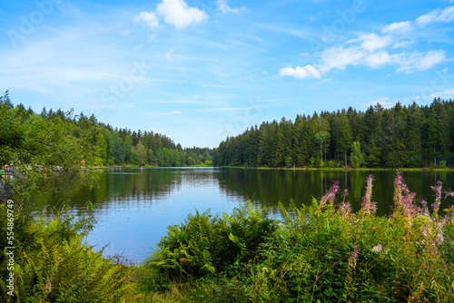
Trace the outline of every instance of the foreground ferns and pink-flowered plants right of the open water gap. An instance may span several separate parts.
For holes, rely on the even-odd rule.
[[[183,226],[170,229],[150,259],[145,274],[148,289],[169,288],[180,301],[190,302],[454,300],[454,208],[441,219],[438,209],[429,212],[424,203],[417,205],[398,174],[396,208],[389,217],[378,217],[370,201],[372,180],[370,176],[356,214],[345,201],[345,192],[335,203],[339,187],[334,184],[320,202],[312,200],[301,208],[292,201],[288,208],[280,205],[280,221],[268,222],[263,216],[267,212],[254,210],[251,204],[222,219],[190,216]],[[442,191],[441,184],[432,189],[439,197],[436,203],[443,192],[445,198],[454,196]],[[244,218],[256,224],[245,225]],[[272,227],[266,237],[260,234],[261,224]],[[235,230],[237,225],[240,230]],[[219,245],[229,247],[236,257],[222,248],[217,255]],[[177,256],[163,254],[177,250]],[[204,258],[208,256],[204,251],[210,258]],[[197,260],[198,270],[186,258]],[[168,275],[164,261],[180,271]],[[201,272],[203,262],[213,270]]]

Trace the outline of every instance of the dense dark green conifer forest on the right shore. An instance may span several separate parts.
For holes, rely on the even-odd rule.
[[[298,114],[262,122],[221,142],[218,166],[428,167],[454,164],[454,102],[380,104],[366,112]]]

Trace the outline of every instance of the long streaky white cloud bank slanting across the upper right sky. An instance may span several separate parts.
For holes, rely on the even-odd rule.
[[[454,1],[454,0],[453,0]],[[436,9],[428,15],[422,15],[417,19],[419,24],[431,22],[454,21],[454,6],[443,10]],[[408,47],[415,41],[405,40],[406,34],[413,30],[410,21],[397,22],[384,26],[382,34],[360,34],[345,44],[335,45],[322,50],[318,64],[308,64],[304,67],[281,68],[279,75],[288,75],[304,79],[321,75],[331,70],[344,70],[348,65],[367,66],[380,68],[389,64],[396,67],[396,73],[414,73],[433,68],[437,64],[447,61],[445,51],[430,50],[426,52],[396,52],[397,48]]]

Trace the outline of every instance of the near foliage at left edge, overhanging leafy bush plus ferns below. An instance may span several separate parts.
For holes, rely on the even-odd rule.
[[[44,109],[37,115],[15,109],[7,93],[0,98],[0,126],[0,164],[12,164],[15,170],[13,178],[0,178],[0,301],[122,301],[133,288],[131,269],[84,244],[94,224],[91,204],[88,213],[77,216],[64,214],[69,210],[37,216],[33,204],[35,195],[49,189],[64,191],[74,182],[95,185],[97,174],[86,167],[106,161],[102,127],[94,116],[74,116],[71,111]],[[8,199],[15,201],[14,297],[6,288]]]

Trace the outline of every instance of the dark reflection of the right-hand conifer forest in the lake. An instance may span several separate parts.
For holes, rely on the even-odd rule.
[[[334,181],[339,181],[341,191],[349,190],[347,200],[353,210],[360,210],[366,178],[372,173],[372,200],[378,202],[378,214],[390,213],[393,205],[393,181],[395,171],[282,171],[282,170],[239,170],[226,169],[216,172],[219,186],[226,195],[241,195],[245,199],[258,200],[258,203],[274,207],[278,201],[289,205],[293,199],[297,206],[310,204],[312,197],[320,200]],[[430,185],[441,180],[444,188],[454,185],[454,174],[447,172],[405,171],[403,176],[410,191],[417,192],[419,200],[433,201]],[[340,192],[341,193],[341,192]],[[341,195],[338,200],[341,201]],[[448,203],[446,203],[448,205]]]

